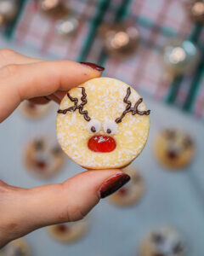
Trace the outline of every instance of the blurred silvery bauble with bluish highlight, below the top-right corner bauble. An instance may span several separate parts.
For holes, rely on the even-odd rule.
[[[161,50],[161,63],[170,77],[190,74],[198,64],[199,52],[198,47],[190,40],[173,39]]]

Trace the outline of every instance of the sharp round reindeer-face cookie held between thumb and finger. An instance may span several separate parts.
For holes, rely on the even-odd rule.
[[[91,79],[71,89],[59,105],[59,144],[85,168],[122,168],[144,148],[149,114],[129,85],[117,79]]]

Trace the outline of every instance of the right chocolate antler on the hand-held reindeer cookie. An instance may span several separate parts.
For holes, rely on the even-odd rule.
[[[129,113],[129,112],[132,112],[133,115],[136,114],[136,113],[138,113],[138,114],[140,114],[140,115],[144,115],[144,114],[149,115],[149,114],[150,114],[150,110],[139,111],[138,107],[139,107],[139,104],[140,104],[141,102],[143,102],[143,99],[142,99],[142,98],[140,98],[140,99],[138,100],[138,102],[136,102],[136,103],[134,104],[134,107],[131,108],[132,103],[127,100],[128,97],[130,96],[130,94],[131,94],[131,90],[130,90],[130,87],[128,87],[128,88],[127,88],[127,94],[126,94],[126,96],[124,97],[124,100],[123,100],[123,102],[125,102],[125,103],[127,104],[127,107],[126,107],[126,109],[122,112],[122,115],[121,115],[119,118],[117,118],[117,119],[115,120],[116,124],[121,123],[121,122],[122,122],[122,119],[123,119],[123,118],[125,117],[125,115],[126,115],[127,113]]]

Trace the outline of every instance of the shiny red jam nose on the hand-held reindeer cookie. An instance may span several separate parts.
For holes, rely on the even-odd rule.
[[[116,141],[110,136],[95,135],[89,139],[88,148],[94,152],[111,152],[116,148]]]

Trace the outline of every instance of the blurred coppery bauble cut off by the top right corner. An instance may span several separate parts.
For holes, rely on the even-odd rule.
[[[195,23],[204,24],[204,2],[202,0],[189,0],[185,5],[190,19]]]

